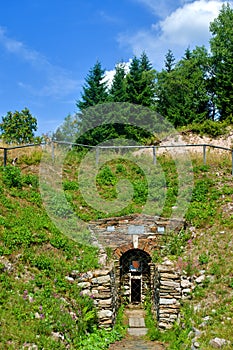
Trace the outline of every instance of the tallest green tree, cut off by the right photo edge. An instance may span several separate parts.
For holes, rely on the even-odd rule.
[[[210,24],[212,38],[212,88],[220,120],[233,114],[233,9],[223,4],[218,17]]]

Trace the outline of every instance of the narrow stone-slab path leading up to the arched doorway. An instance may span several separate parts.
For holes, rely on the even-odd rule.
[[[145,311],[140,307],[130,307],[125,310],[128,321],[126,338],[111,344],[109,350],[165,350],[160,342],[149,341],[143,338],[147,333],[145,326]]]

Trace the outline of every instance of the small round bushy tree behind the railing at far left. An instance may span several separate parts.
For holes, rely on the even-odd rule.
[[[34,135],[37,130],[37,120],[28,108],[21,112],[7,112],[7,115],[2,117],[0,130],[1,137],[6,143],[23,144],[40,141]]]

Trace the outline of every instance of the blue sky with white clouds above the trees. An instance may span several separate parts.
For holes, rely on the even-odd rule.
[[[208,46],[221,0],[8,0],[0,5],[0,117],[30,109],[38,133],[76,112],[84,79],[99,60],[112,76],[119,61],[145,51],[160,70],[171,49]],[[230,1],[232,5],[232,1]]]

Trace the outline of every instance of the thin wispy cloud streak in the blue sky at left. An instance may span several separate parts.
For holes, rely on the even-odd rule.
[[[19,82],[18,85],[37,96],[53,96],[59,98],[66,96],[80,86],[80,82],[70,77],[65,69],[51,64],[41,53],[28,48],[24,43],[12,39],[6,35],[6,31],[0,27],[0,45],[10,54],[27,62],[35,71],[40,72],[44,79],[44,85],[33,88],[30,84]]]

